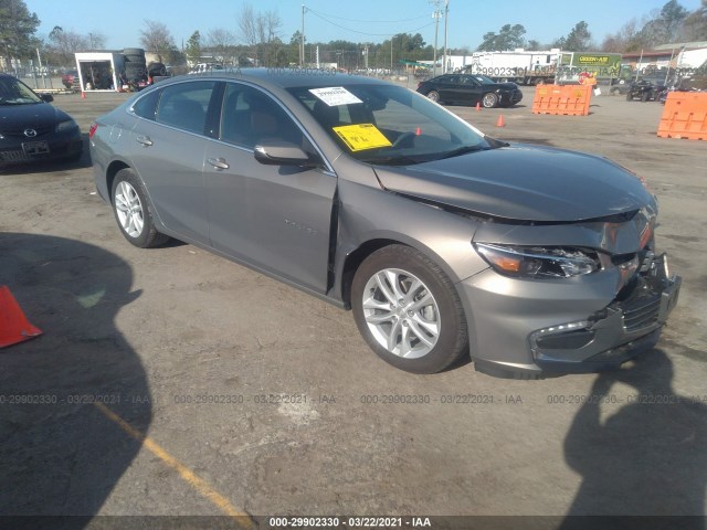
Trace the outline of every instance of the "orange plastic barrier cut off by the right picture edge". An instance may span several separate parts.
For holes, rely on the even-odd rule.
[[[671,92],[665,100],[658,136],[707,140],[707,93]]]

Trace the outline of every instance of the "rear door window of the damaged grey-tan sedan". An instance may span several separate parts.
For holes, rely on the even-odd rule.
[[[214,81],[180,83],[162,89],[157,121],[203,135]]]

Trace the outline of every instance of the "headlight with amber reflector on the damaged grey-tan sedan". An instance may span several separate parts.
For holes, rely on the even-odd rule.
[[[599,256],[581,248],[506,246],[474,243],[482,257],[499,274],[525,278],[570,278],[601,268]]]

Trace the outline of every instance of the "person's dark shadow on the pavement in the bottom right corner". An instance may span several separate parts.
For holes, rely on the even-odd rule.
[[[582,484],[561,529],[587,528],[572,516],[698,516],[679,528],[705,529],[707,406],[701,396],[677,395],[672,381],[673,363],[659,349],[597,378],[564,439]],[[616,383],[632,392],[621,394]],[[626,404],[602,422],[608,403]]]

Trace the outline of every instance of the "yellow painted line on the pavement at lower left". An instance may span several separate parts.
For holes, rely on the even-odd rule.
[[[116,423],[123,431],[125,431],[128,435],[141,442],[143,445],[155,456],[157,456],[160,460],[165,463],[168,467],[171,467],[176,470],[179,476],[191,486],[193,489],[199,491],[203,497],[209,499],[217,508],[219,508],[223,513],[230,517],[238,518],[238,523],[242,528],[252,529],[253,521],[250,516],[244,511],[238,510],[229,499],[219,494],[213,487],[211,487],[205,480],[199,478],[194,473],[184,466],[181,462],[170,455],[166,449],[163,449],[157,442],[155,442],[149,436],[140,433],[137,428],[130,425],[128,422],[118,416],[115,412],[108,409],[103,403],[94,403],[96,409],[98,409],[106,417],[108,417],[112,422]]]

